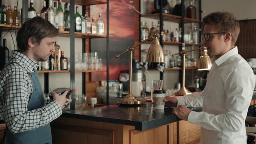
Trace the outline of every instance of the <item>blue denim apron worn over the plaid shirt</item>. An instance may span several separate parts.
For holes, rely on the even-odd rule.
[[[42,108],[45,105],[42,88],[39,82],[38,73],[32,72],[30,79],[33,86],[33,92],[27,105],[28,111]],[[6,129],[7,144],[52,144],[52,135],[50,124],[39,127],[32,131],[20,132],[13,134]]]

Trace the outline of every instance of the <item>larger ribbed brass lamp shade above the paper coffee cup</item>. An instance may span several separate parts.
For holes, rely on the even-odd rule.
[[[148,49],[146,62],[165,62],[164,49],[160,45],[158,36],[153,37],[152,44]]]

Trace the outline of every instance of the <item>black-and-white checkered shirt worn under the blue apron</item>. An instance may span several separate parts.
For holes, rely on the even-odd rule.
[[[42,127],[62,114],[56,101],[46,101],[46,106],[32,111],[27,105],[33,91],[27,72],[34,72],[37,64],[20,52],[13,51],[10,62],[0,73],[0,117],[13,133]]]

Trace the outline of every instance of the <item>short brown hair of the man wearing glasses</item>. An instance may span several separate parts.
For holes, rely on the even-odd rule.
[[[233,44],[236,43],[237,37],[240,32],[239,22],[232,13],[228,12],[215,12],[210,13],[203,18],[204,25],[213,25],[219,29],[220,32],[229,32],[232,35]]]

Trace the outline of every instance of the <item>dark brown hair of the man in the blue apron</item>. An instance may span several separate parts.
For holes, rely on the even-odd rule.
[[[55,37],[59,33],[49,21],[36,16],[27,20],[17,33],[16,42],[18,49],[23,52],[28,49],[28,39],[39,45],[46,37]]]

